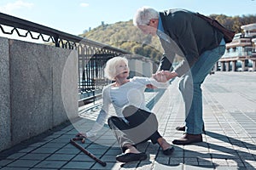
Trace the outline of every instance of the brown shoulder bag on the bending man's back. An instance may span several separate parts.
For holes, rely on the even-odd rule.
[[[211,19],[210,17],[207,17],[203,14],[199,14],[199,13],[196,13],[197,16],[199,16],[201,19],[203,20],[207,20],[207,22],[218,29],[218,31],[221,31],[223,34],[224,34],[224,41],[226,43],[229,43],[229,42],[232,42],[233,40],[233,37],[235,36],[235,31],[230,31],[228,29],[226,29],[224,26],[222,26],[221,24],[219,24],[218,20],[213,20]]]

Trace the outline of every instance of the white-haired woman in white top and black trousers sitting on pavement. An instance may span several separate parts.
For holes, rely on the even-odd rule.
[[[168,83],[157,82],[154,78],[129,77],[128,60],[124,57],[109,59],[105,67],[105,76],[114,82],[103,88],[102,109],[94,126],[85,137],[93,137],[102,129],[108,118],[108,107],[113,105],[116,116],[108,118],[108,126],[113,130],[122,149],[122,154],[116,156],[117,161],[142,161],[147,155],[137,150],[136,145],[148,139],[153,144],[160,144],[165,155],[171,155],[172,145],[158,132],[158,122],[154,113],[145,105],[144,90],[147,85],[156,88],[167,88]]]

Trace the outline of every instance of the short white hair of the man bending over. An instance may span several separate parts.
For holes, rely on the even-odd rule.
[[[134,26],[148,26],[151,19],[159,19],[159,12],[150,7],[141,7],[133,16]]]

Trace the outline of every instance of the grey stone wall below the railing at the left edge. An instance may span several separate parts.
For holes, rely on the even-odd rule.
[[[78,116],[76,51],[3,37],[0,50],[0,150]]]

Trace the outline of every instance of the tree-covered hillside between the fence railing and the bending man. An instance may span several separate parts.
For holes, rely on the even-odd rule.
[[[132,20],[98,26],[79,36],[154,60],[159,60],[163,52],[158,37],[144,35],[133,26]]]

